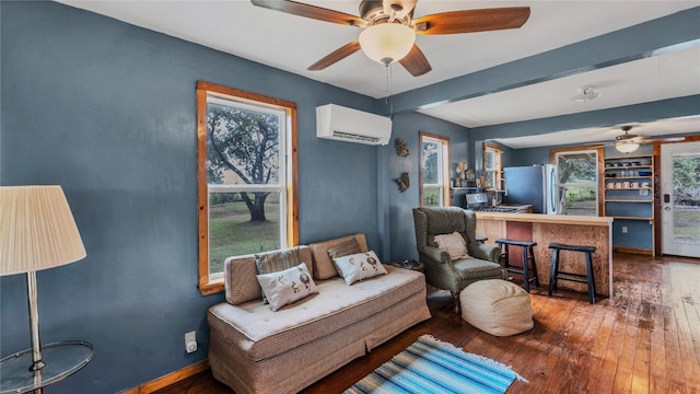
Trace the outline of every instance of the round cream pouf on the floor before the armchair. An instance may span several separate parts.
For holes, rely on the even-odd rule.
[[[495,336],[526,332],[534,326],[529,294],[501,279],[479,280],[459,293],[462,318]]]

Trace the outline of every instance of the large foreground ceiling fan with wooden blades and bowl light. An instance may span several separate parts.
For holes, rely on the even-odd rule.
[[[250,0],[254,5],[318,21],[364,28],[358,39],[341,46],[308,67],[323,70],[362,49],[380,63],[398,61],[413,77],[432,70],[416,45],[416,34],[458,34],[521,27],[529,18],[529,7],[441,12],[413,18],[418,0],[362,0],[360,15],[305,4],[292,0]]]

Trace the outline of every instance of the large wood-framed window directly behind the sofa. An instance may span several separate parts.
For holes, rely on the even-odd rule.
[[[296,104],[197,83],[199,289],[229,256],[298,243]]]

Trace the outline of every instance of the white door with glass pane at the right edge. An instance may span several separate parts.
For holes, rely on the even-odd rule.
[[[661,147],[662,253],[700,257],[700,142]]]

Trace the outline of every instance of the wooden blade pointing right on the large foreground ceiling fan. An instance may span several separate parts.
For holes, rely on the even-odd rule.
[[[415,19],[416,34],[457,34],[521,27],[529,7],[463,10]]]

